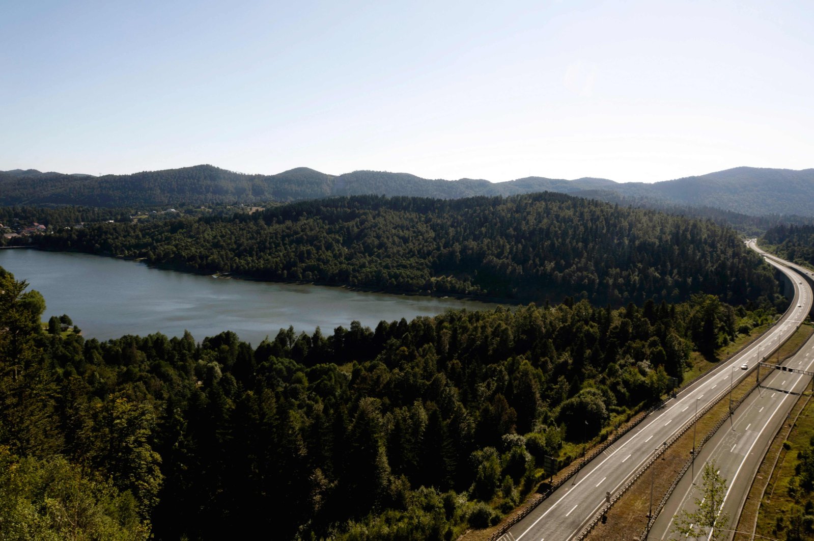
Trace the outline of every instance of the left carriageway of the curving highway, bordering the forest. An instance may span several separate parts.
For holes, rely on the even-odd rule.
[[[606,491],[615,494],[646,463],[656,448],[689,424],[709,402],[729,391],[730,383],[772,351],[805,319],[811,309],[812,292],[796,272],[769,261],[784,272],[794,285],[794,298],[786,313],[757,341],[702,379],[683,389],[676,398],[654,411],[635,429],[619,438],[566,484],[515,524],[501,541],[566,541],[574,538],[606,502]]]

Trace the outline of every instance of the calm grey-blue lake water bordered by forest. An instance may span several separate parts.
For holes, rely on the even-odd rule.
[[[309,334],[379,321],[440,314],[448,308],[482,310],[490,305],[435,297],[348,291],[308,284],[269,284],[164,271],[142,262],[84,253],[0,250],[0,266],[28,280],[46,299],[43,317],[68,314],[85,337],[163,332],[195,340],[234,331],[257,345],[293,325]]]

